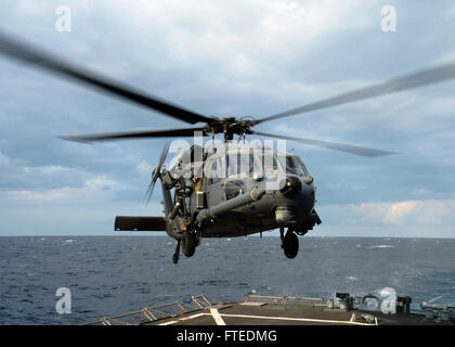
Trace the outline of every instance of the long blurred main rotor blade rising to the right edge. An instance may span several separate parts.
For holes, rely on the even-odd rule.
[[[443,80],[455,78],[455,61],[439,65],[437,67],[424,69],[414,74],[390,79],[386,82],[374,85],[370,87],[354,90],[340,94],[335,98],[325,99],[309,105],[292,108],[273,116],[258,119],[256,124],[288,117],[310,111],[333,107],[347,104],[354,101],[361,101],[369,98],[380,97],[385,94],[395,93],[399,91],[424,87],[431,83],[441,82]]]

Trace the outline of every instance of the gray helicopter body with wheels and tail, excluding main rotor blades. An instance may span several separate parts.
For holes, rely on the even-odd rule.
[[[295,258],[297,234],[321,223],[313,178],[297,155],[227,141],[207,151],[198,145],[181,151],[167,170],[162,164],[168,151],[167,145],[147,191],[150,200],[159,178],[165,217],[118,216],[115,230],[166,231],[177,240],[174,262],[180,247],[191,257],[203,237],[246,236],[277,228],[286,257]]]

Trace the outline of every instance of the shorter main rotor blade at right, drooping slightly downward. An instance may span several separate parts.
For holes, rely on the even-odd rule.
[[[342,143],[335,143],[335,142],[327,142],[327,141],[320,141],[320,140],[310,140],[310,139],[300,139],[300,138],[292,138],[292,137],[286,137],[286,136],[274,134],[274,133],[259,132],[259,131],[251,131],[250,133],[258,134],[261,137],[270,137],[270,138],[276,138],[276,139],[298,141],[298,142],[302,142],[302,143],[307,143],[307,144],[311,144],[311,145],[315,145],[320,147],[347,152],[350,154],[355,154],[355,155],[361,155],[361,156],[384,156],[384,155],[396,154],[394,152],[360,147],[360,146],[350,145],[350,144],[342,144]]]

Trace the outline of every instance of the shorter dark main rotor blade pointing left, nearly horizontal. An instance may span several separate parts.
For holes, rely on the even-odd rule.
[[[203,134],[205,134],[206,128],[106,132],[106,133],[60,137],[60,139],[75,141],[75,142],[95,142],[95,141],[145,139],[145,138],[178,138],[178,137],[193,137],[195,131],[202,131]]]

